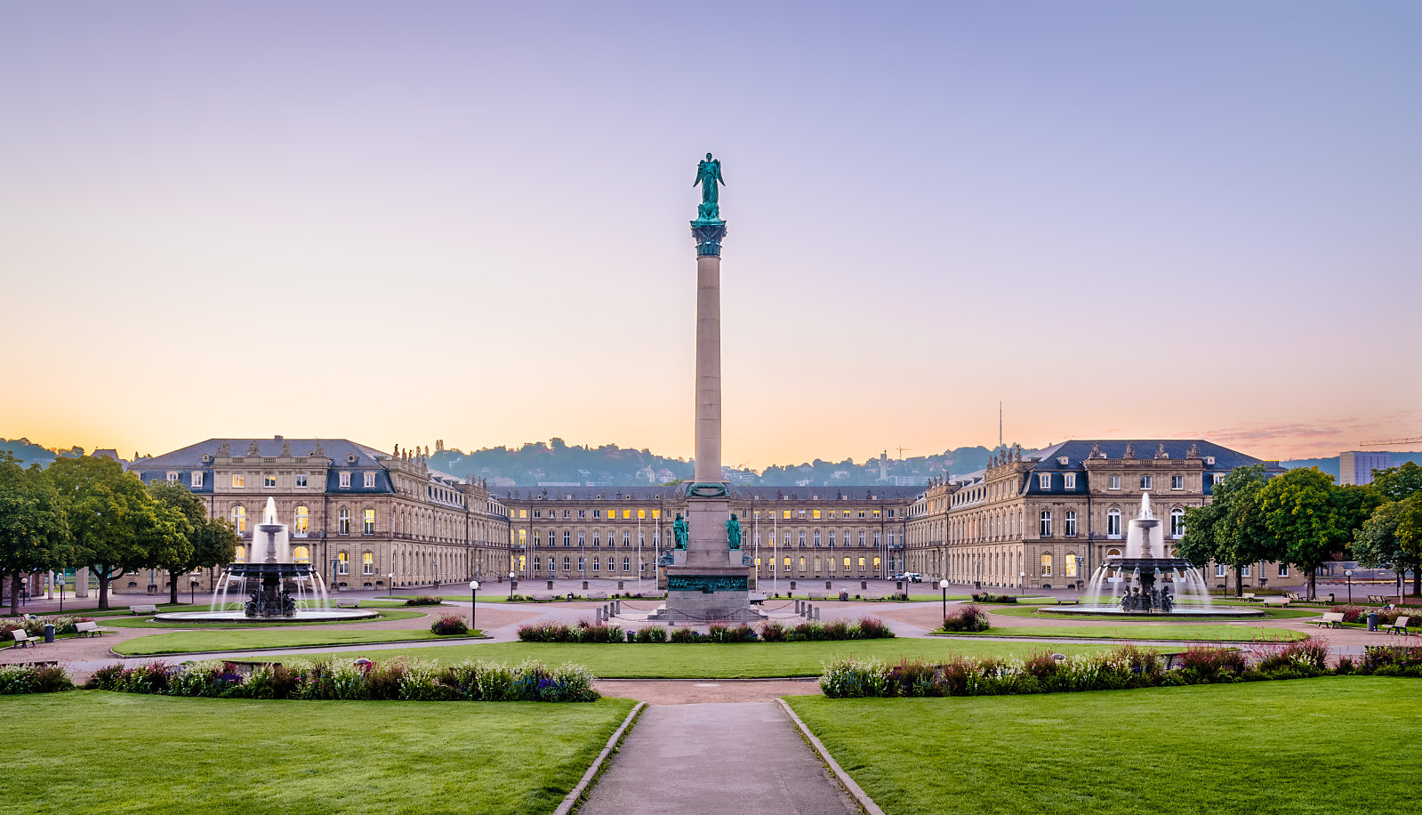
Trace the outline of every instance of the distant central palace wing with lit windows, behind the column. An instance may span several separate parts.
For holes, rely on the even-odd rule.
[[[758,580],[873,579],[903,570],[906,511],[921,486],[732,486]],[[685,512],[680,486],[506,491],[520,580],[653,580]],[[650,589],[650,585],[647,586]],[[768,587],[768,586],[766,586]],[[629,586],[629,590],[631,587]]]

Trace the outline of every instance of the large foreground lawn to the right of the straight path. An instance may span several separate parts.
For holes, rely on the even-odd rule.
[[[1413,765],[1378,740],[1422,742],[1419,690],[1327,677],[788,701],[889,815],[1401,815],[1416,812]],[[906,738],[906,723],[919,738]]]

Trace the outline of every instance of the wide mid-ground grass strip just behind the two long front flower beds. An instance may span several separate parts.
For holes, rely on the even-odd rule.
[[[738,643],[738,644],[577,644],[577,643],[472,643],[438,649],[391,649],[378,651],[343,651],[331,659],[370,657],[388,660],[395,656],[458,661],[482,659],[519,663],[538,659],[549,664],[574,661],[604,678],[751,678],[784,676],[819,676],[820,663],[842,656],[909,659],[944,659],[964,656],[1032,654],[1047,646],[1039,643],[993,643],[967,640],[850,640],[823,643]],[[1105,644],[1052,644],[1062,653],[1096,653]]]

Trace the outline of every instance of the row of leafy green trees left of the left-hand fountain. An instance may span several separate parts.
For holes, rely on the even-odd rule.
[[[24,573],[87,566],[98,579],[98,607],[109,583],[135,569],[178,575],[229,563],[237,535],[209,519],[202,501],[178,484],[148,486],[109,458],[60,458],[47,469],[24,468],[0,452],[0,580],[10,579],[18,613]]]

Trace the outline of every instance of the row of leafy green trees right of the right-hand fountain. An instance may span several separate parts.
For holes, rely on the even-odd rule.
[[[1318,468],[1270,478],[1264,465],[1240,467],[1212,504],[1185,511],[1185,525],[1179,555],[1231,566],[1236,593],[1243,566],[1280,562],[1308,575],[1314,597],[1318,569],[1349,553],[1365,568],[1413,569],[1422,585],[1422,467],[1412,462],[1376,471],[1367,486],[1337,485]]]

